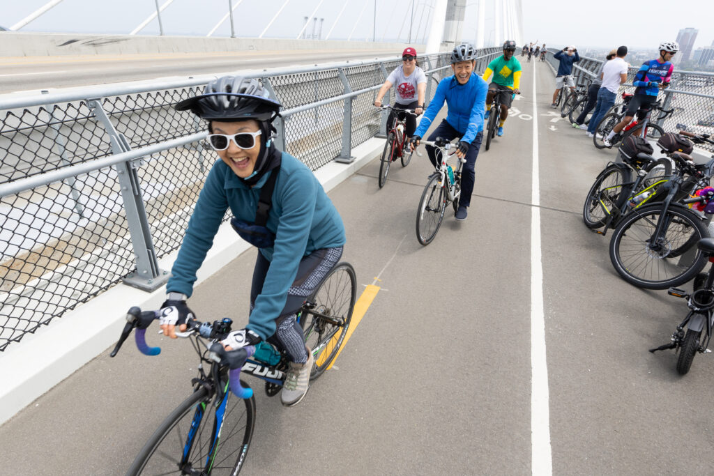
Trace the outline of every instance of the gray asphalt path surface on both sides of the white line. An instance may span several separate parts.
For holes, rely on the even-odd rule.
[[[519,113],[481,149],[468,220],[447,211],[431,245],[419,245],[414,230],[426,156],[395,164],[381,190],[372,161],[331,191],[358,293],[377,276],[381,290],[336,368],[300,405],[283,408],[251,380],[258,420],[246,474],[531,472],[534,100],[553,473],[712,472],[710,357],[697,355],[680,378],[671,351],[648,353],[686,307],[616,275],[609,236],[580,218],[614,152],[550,122],[553,75],[545,64],[523,66]],[[255,255],[198,286],[191,308],[245,323]],[[195,374],[188,343],[149,339],[162,346],[158,357],[131,345],[114,359],[104,353],[0,427],[2,472],[121,474]]]

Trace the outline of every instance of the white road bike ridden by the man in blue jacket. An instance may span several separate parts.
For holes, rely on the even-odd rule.
[[[456,152],[456,143],[450,143],[437,138],[436,141],[421,141],[425,146],[435,148],[438,166],[429,176],[424,187],[419,207],[416,211],[416,239],[422,245],[428,245],[439,231],[441,221],[448,203],[453,204],[453,211],[458,211],[458,199],[461,196],[461,168],[466,158],[458,159],[456,169],[447,161]],[[451,153],[448,151],[452,150]],[[421,156],[421,153],[417,154]]]

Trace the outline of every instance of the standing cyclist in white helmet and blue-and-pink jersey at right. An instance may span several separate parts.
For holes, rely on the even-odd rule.
[[[620,131],[627,126],[632,118],[635,117],[635,113],[640,109],[648,109],[650,105],[657,102],[657,95],[660,92],[660,88],[664,89],[669,86],[670,79],[672,79],[672,72],[674,71],[673,64],[670,63],[672,56],[674,56],[677,51],[679,51],[679,44],[676,41],[667,41],[660,44],[660,57],[658,59],[652,59],[650,61],[645,61],[645,63],[640,66],[640,71],[635,74],[635,79],[633,80],[633,85],[636,86],[635,94],[630,99],[627,111],[625,112],[625,118],[620,123],[615,124],[613,130],[610,131],[608,136],[603,140],[605,146],[612,146],[612,138],[615,134],[619,134]],[[634,134],[639,136],[641,129],[635,131]]]

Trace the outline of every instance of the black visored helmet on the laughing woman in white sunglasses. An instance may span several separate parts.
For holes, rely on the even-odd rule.
[[[255,119],[272,122],[281,103],[268,97],[258,79],[243,76],[223,76],[206,84],[203,94],[184,99],[176,111],[191,111],[206,121],[221,119]]]

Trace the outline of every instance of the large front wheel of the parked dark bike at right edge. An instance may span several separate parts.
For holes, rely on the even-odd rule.
[[[663,228],[655,237],[660,221]],[[653,204],[630,213],[615,228],[610,261],[630,284],[667,289],[686,283],[703,270],[706,256],[696,243],[708,236],[704,223],[685,206],[671,203],[665,214],[661,203]]]

